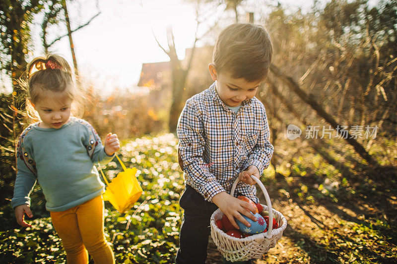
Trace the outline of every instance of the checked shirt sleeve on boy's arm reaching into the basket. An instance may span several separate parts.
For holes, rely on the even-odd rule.
[[[179,117],[177,134],[179,138],[178,159],[188,182],[205,200],[225,191],[208,167],[204,165],[204,128],[197,107],[190,101],[186,103]]]

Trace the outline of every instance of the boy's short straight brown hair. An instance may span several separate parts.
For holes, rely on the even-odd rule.
[[[219,34],[212,63],[218,73],[255,82],[267,76],[272,53],[270,36],[263,26],[237,23]]]

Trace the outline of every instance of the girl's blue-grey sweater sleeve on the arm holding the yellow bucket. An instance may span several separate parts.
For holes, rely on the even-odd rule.
[[[105,147],[102,145],[101,138],[91,124],[83,119],[80,119],[79,122],[85,127],[83,145],[87,149],[87,153],[90,156],[92,162],[99,162],[101,165],[109,163],[116,154],[113,154],[112,156],[107,155],[105,152]]]

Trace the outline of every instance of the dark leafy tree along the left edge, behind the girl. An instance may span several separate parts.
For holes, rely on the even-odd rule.
[[[24,91],[18,83],[26,69],[25,54],[30,40],[29,24],[33,15],[42,10],[39,0],[0,1],[0,58],[1,70],[12,78],[12,95],[0,94],[0,169],[1,205],[8,203],[15,178],[15,141],[22,127],[21,108]],[[9,107],[11,105],[11,108]]]

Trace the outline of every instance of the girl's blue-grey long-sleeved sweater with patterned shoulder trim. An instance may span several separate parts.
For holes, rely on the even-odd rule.
[[[30,206],[29,196],[38,181],[48,211],[65,211],[103,194],[94,163],[106,164],[114,157],[105,153],[95,129],[76,117],[59,129],[30,125],[19,137],[16,156],[11,206]]]

